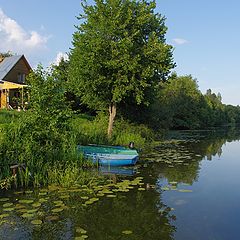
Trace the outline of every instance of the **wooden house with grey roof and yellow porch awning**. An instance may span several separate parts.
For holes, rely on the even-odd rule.
[[[0,108],[23,107],[23,88],[30,71],[24,55],[0,56]]]

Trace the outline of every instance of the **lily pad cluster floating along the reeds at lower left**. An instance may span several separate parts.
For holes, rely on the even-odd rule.
[[[17,215],[23,221],[29,221],[33,227],[38,227],[45,222],[61,220],[68,209],[87,207],[98,202],[102,197],[116,198],[118,193],[125,193],[131,189],[145,190],[142,177],[120,182],[91,183],[91,186],[76,185],[69,189],[49,186],[41,190],[16,191],[14,197],[0,198],[0,221],[7,223],[7,219]],[[74,201],[71,201],[71,200]],[[78,199],[78,205],[76,205]],[[1,224],[0,224],[1,225]],[[78,239],[85,239],[87,235],[83,230]]]

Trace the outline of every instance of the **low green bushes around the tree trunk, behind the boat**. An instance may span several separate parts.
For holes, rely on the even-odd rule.
[[[100,113],[96,118],[86,118],[83,115],[76,115],[71,120],[71,125],[77,136],[78,144],[111,144],[125,145],[133,141],[137,148],[143,148],[147,143],[152,142],[153,132],[144,125],[135,125],[126,120],[117,120],[112,138],[106,136],[105,129],[108,124],[106,115]]]

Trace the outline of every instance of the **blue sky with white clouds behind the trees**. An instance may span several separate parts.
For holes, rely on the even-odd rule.
[[[166,17],[175,71],[232,105],[240,105],[239,9],[238,0],[157,0],[156,9]],[[69,51],[80,11],[80,0],[0,0],[0,52],[47,66]]]

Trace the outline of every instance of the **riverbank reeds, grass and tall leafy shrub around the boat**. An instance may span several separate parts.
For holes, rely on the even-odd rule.
[[[74,113],[65,98],[64,82],[57,76],[54,68],[46,72],[39,66],[28,77],[29,109],[0,112],[2,187],[84,182],[88,174],[83,170],[92,164],[77,152],[78,144],[127,146],[134,141],[140,148],[153,138],[149,128],[118,120],[109,139],[107,117]],[[10,168],[14,165],[18,165],[16,176]]]

